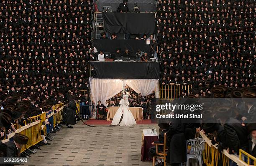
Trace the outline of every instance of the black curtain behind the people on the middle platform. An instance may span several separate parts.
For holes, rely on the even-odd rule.
[[[136,52],[141,50],[149,54],[150,45],[146,45],[146,40],[94,40],[94,47],[103,52],[115,53],[117,48],[120,48],[120,52],[124,52],[128,49],[132,57],[136,57]]]

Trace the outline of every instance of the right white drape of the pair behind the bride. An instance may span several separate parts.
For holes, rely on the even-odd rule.
[[[128,84],[138,94],[147,96],[156,90],[158,79],[125,79],[125,84]]]

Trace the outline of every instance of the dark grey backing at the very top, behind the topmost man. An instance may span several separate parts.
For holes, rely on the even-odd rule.
[[[122,0],[95,0],[98,5],[99,12],[102,12],[103,6],[110,6],[113,12],[117,11],[117,8],[122,3]],[[134,3],[137,3],[141,12],[156,12],[156,0],[128,0],[129,11],[132,12]]]

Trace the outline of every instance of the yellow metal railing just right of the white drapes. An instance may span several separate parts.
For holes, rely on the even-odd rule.
[[[182,94],[182,90],[188,95],[192,85],[181,84],[159,84],[159,96],[161,99],[177,99]]]

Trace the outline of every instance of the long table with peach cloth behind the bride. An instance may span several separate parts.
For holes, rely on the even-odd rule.
[[[119,109],[119,107],[108,107],[108,116],[107,121],[110,121],[114,118],[116,111]],[[142,121],[143,120],[143,111],[142,107],[129,107],[129,110],[133,114],[133,117],[136,121]]]

